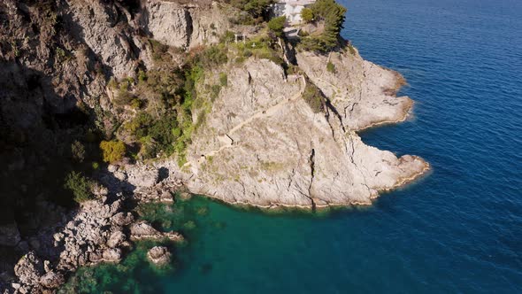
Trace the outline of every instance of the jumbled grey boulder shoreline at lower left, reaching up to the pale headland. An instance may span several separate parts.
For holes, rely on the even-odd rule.
[[[173,202],[172,193],[180,187],[165,186],[165,182],[157,182],[157,174],[148,175],[134,183],[142,184],[139,188],[148,190],[151,198],[134,197],[139,194],[126,192],[126,184],[115,186],[113,182],[105,182],[109,190],[98,190],[96,200],[83,203],[77,211],[63,215],[63,221],[39,234],[40,245],[19,259],[14,267],[15,277],[5,285],[4,293],[55,292],[79,267],[119,263],[137,241],[184,242],[180,233],[162,232],[149,222],[136,219],[136,213],[128,208],[129,202],[156,201],[157,194],[168,194]],[[157,256],[151,262],[158,266],[165,264],[170,259],[170,252],[165,250],[161,250],[163,257]]]

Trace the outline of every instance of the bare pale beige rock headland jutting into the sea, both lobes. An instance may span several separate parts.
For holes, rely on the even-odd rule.
[[[348,52],[332,59],[341,74],[321,77],[326,57],[298,54],[303,74],[331,101],[319,113],[303,99],[303,74],[287,78],[268,60],[234,69],[190,148],[188,189],[263,207],[370,204],[380,191],[424,173],[424,160],[397,158],[355,132],[405,119],[410,99],[389,92],[400,75]]]

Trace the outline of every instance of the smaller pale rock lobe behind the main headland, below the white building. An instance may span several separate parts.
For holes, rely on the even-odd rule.
[[[358,131],[406,120],[413,101],[395,97],[405,83],[401,74],[364,60],[355,48],[328,56],[298,52],[296,58],[303,72],[328,97],[344,128]],[[334,71],[327,70],[328,63]]]

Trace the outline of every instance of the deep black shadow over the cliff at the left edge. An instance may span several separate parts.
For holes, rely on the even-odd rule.
[[[51,233],[72,220],[78,207],[64,188],[71,171],[104,174],[134,190],[97,167],[103,135],[95,113],[76,105],[76,97],[58,95],[49,76],[0,60],[0,283],[29,250],[56,258]],[[74,143],[81,147],[74,150]]]

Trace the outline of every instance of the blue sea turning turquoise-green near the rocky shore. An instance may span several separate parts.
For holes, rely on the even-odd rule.
[[[144,214],[180,229],[171,267],[138,249],[82,269],[90,293],[522,293],[522,1],[341,0],[342,35],[401,72],[411,120],[366,143],[431,174],[370,207],[247,211],[195,197]],[[66,291],[65,289],[64,291]]]

